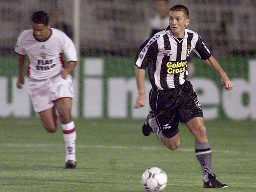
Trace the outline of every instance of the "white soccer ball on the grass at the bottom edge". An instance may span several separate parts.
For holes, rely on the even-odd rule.
[[[148,192],[160,192],[167,184],[167,175],[161,168],[148,168],[142,174],[142,186]]]

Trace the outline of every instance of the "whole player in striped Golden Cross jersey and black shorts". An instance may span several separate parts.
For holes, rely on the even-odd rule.
[[[233,84],[202,38],[186,28],[189,22],[188,8],[173,6],[169,10],[169,27],[156,33],[139,48],[135,59],[139,95],[134,107],[145,105],[144,78],[147,68],[152,85],[149,95],[152,111],[142,125],[143,134],[147,136],[154,132],[168,149],[175,150],[180,146],[178,124],[184,122],[195,138],[196,157],[203,172],[203,187],[226,188],[228,186],[218,181],[213,173],[212,151],[204,126],[202,106],[190,81],[186,79],[191,51],[219,74],[221,84],[227,91],[233,89]]]

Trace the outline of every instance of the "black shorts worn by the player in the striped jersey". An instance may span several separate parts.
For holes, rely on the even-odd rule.
[[[151,89],[150,107],[156,122],[166,138],[179,132],[179,122],[187,123],[195,117],[203,117],[202,106],[190,81],[168,90]]]

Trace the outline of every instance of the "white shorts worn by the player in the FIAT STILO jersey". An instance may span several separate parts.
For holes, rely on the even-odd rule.
[[[63,79],[60,74],[45,80],[31,79],[28,93],[36,113],[54,106],[54,101],[63,97],[74,98],[73,79],[68,75]]]

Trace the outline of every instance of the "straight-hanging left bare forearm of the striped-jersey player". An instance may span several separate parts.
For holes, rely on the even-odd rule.
[[[145,70],[135,66],[135,76],[139,95],[137,96],[134,108],[143,107],[146,104]]]

